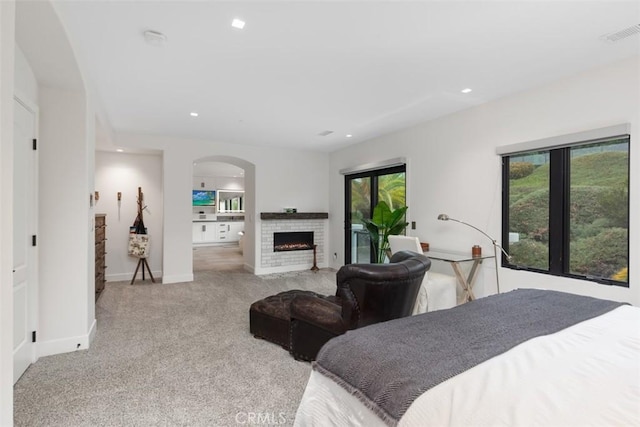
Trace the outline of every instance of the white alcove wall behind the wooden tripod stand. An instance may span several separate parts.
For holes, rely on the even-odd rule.
[[[100,199],[96,213],[107,215],[107,281],[131,280],[138,258],[129,256],[129,227],[138,214],[138,187],[142,187],[144,224],[150,237],[149,267],[154,278],[162,275],[162,156],[96,152],[95,189]],[[118,203],[117,194],[122,193]],[[141,279],[138,272],[137,279]],[[148,279],[147,279],[148,280]]]

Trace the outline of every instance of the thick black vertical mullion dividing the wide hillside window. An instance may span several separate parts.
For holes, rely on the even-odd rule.
[[[568,257],[565,257],[568,242],[568,167],[566,149],[551,150],[549,161],[549,272],[562,274]]]

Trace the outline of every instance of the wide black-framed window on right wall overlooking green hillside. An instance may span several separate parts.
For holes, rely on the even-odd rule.
[[[504,155],[503,264],[629,286],[629,141]]]

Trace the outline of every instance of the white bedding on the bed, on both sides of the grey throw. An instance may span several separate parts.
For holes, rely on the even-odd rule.
[[[462,326],[460,326],[462,327]],[[312,371],[296,426],[382,426]],[[640,426],[640,308],[531,339],[428,390],[399,426]]]

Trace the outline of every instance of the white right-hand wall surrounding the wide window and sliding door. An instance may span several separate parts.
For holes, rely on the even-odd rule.
[[[492,236],[501,234],[501,162],[496,147],[631,123],[640,128],[640,58],[594,69],[553,84],[426,122],[331,154],[331,252],[344,260],[344,177],[339,170],[369,162],[407,158],[408,234],[432,248],[470,251],[491,242],[463,225],[438,221],[439,213],[467,221]],[[630,287],[500,269],[501,290],[544,287],[640,305],[640,150],[631,149]],[[446,267],[446,266],[445,266]],[[495,293],[493,263],[484,265],[476,295]]]

